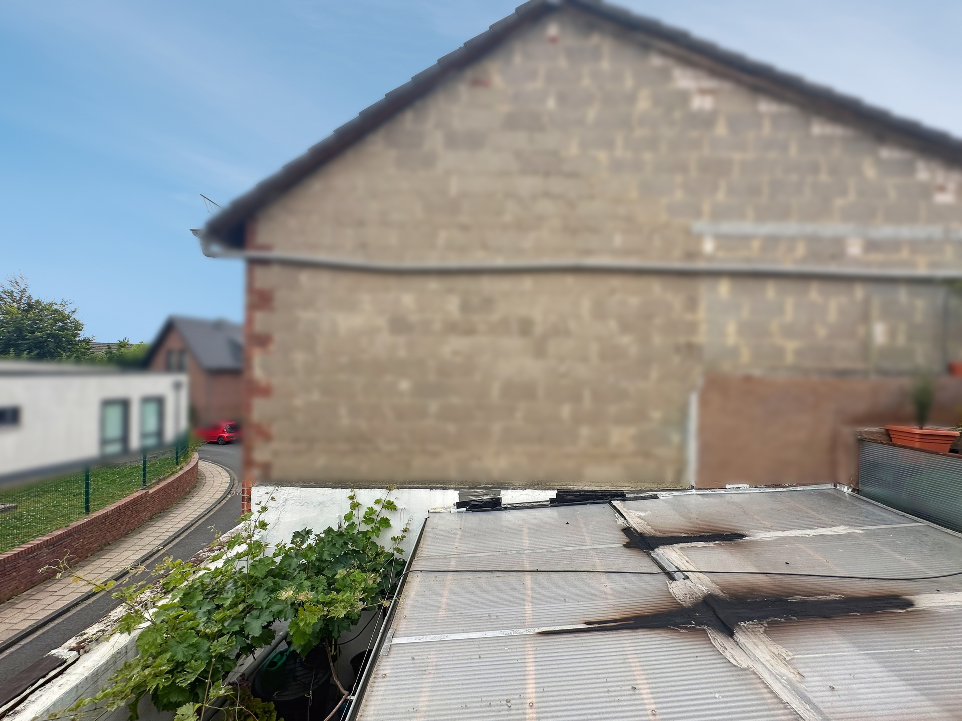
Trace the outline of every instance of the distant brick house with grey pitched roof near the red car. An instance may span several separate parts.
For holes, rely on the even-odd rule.
[[[195,426],[241,418],[243,332],[237,323],[171,315],[151,343],[144,365],[187,371]]]

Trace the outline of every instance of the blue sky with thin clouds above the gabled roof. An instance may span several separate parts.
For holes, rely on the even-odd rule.
[[[621,4],[962,137],[962,3]],[[98,340],[240,320],[240,263],[188,232],[200,193],[225,205],[515,5],[5,0],[0,276],[70,299]]]

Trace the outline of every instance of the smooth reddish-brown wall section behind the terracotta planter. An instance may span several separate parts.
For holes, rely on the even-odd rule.
[[[913,425],[912,379],[709,375],[698,396],[698,488],[855,483],[855,430]],[[935,386],[929,423],[954,426],[962,379]]]

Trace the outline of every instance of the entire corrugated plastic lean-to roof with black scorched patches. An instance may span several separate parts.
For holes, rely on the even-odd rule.
[[[834,489],[615,506],[432,515],[355,718],[962,718],[959,577],[771,575],[959,571],[962,536]],[[656,551],[624,545],[629,522]]]

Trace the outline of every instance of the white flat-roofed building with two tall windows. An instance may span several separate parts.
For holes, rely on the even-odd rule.
[[[186,373],[0,360],[0,480],[172,444]]]

